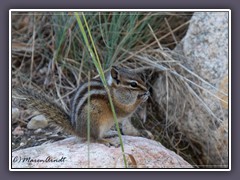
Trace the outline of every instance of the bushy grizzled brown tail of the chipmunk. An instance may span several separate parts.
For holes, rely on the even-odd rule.
[[[17,96],[18,101],[21,103],[23,101],[30,109],[43,114],[48,119],[49,124],[55,124],[65,132],[76,135],[71,125],[70,115],[43,92],[36,89],[17,88],[13,90],[13,94]]]

